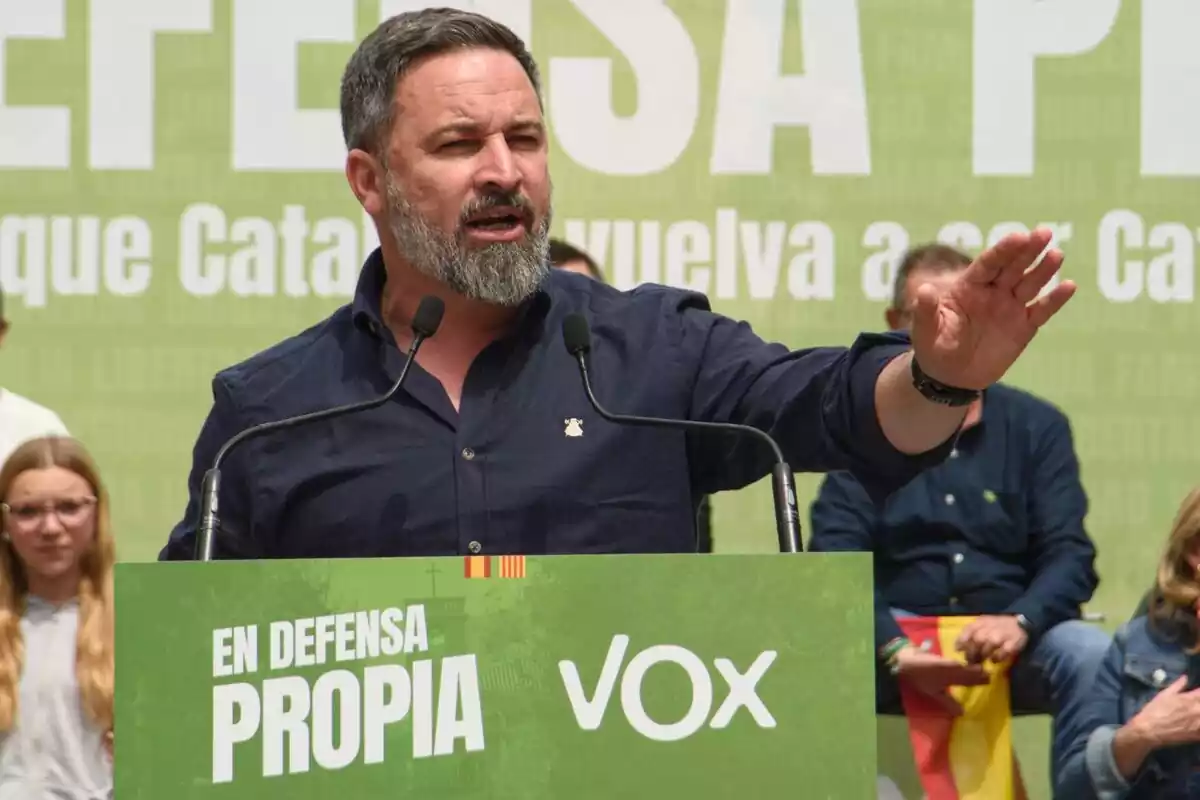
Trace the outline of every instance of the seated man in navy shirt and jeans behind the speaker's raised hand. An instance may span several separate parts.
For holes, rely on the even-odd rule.
[[[895,276],[888,326],[905,330],[922,284],[944,285],[971,259],[942,245],[908,252]],[[1050,403],[1003,384],[970,408],[950,457],[877,507],[846,473],[812,505],[810,549],[875,554],[880,712],[901,712],[899,678],[947,711],[953,685],[983,680],[979,663],[1015,658],[1018,710],[1054,715],[1052,769],[1110,638],[1080,621],[1099,583],[1084,528],[1070,423]],[[972,666],[922,651],[894,614],[978,615],[958,642]]]

